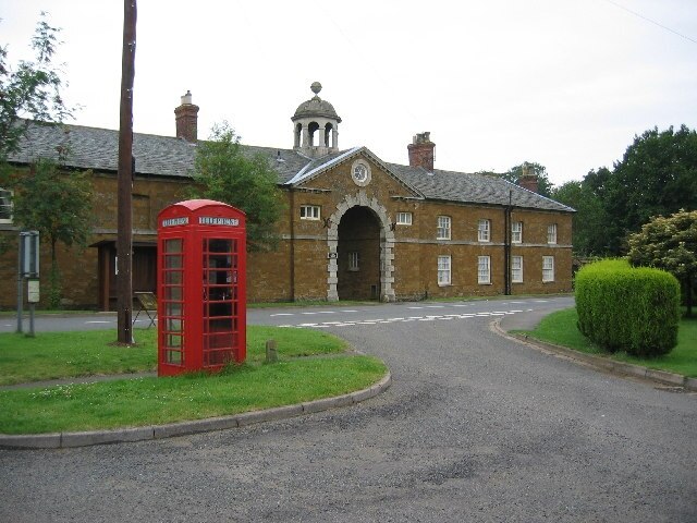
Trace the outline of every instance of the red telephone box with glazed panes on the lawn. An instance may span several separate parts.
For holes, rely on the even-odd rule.
[[[158,376],[246,357],[245,214],[210,199],[158,215]]]

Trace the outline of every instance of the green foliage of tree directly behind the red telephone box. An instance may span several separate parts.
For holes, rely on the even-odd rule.
[[[227,122],[215,125],[210,139],[198,145],[192,196],[223,202],[247,215],[249,251],[274,248],[283,212],[278,175],[262,155],[247,156]]]

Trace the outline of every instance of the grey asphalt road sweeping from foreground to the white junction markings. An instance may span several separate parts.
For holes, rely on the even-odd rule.
[[[696,522],[697,396],[491,332],[570,301],[519,302],[250,312],[344,337],[392,387],[242,429],[2,450],[0,521]]]

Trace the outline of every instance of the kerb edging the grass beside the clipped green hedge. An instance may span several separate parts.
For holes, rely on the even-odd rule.
[[[493,320],[491,323],[491,330],[500,336],[503,336],[504,338],[526,344],[546,354],[561,356],[565,360],[571,360],[576,363],[580,363],[583,365],[595,367],[612,374],[650,379],[662,385],[683,387],[686,390],[697,391],[697,378],[688,378],[680,374],[668,373],[665,370],[656,370],[652,368],[641,367],[639,365],[633,365],[631,363],[615,362],[613,360],[597,356],[595,354],[577,352],[565,346],[535,340],[526,335],[510,333],[501,328],[500,323],[500,319]]]

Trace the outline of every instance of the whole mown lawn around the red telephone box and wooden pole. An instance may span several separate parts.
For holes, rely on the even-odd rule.
[[[233,415],[360,390],[387,373],[379,360],[356,355],[326,332],[249,327],[247,337],[247,362],[218,375],[1,390],[0,433],[94,430]],[[0,377],[7,384],[156,367],[155,330],[138,332],[142,343],[136,348],[110,346],[114,339],[114,331],[0,335]],[[264,363],[268,339],[278,343],[279,363]],[[54,367],[61,370],[48,370]]]

